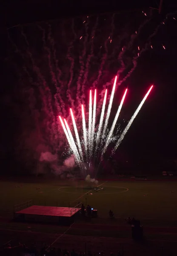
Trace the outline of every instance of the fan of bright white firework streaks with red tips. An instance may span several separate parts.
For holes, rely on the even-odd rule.
[[[74,115],[72,110],[71,111],[71,118],[72,123],[74,127],[74,133],[75,133],[75,140],[73,135],[71,134],[69,125],[67,124],[66,120],[64,119],[65,125],[63,123],[63,120],[60,118],[61,125],[63,127],[64,133],[66,135],[66,138],[69,143],[70,151],[74,154],[76,163],[80,167],[82,173],[84,176],[90,174],[90,175],[96,175],[96,166],[100,164],[100,162],[103,160],[104,154],[106,153],[106,150],[110,143],[114,143],[114,146],[112,148],[111,155],[115,153],[117,148],[119,147],[120,143],[122,142],[123,138],[125,137],[126,133],[128,132],[128,129],[130,128],[132,122],[134,121],[135,117],[137,116],[138,112],[142,108],[144,102],[146,101],[153,85],[150,87],[148,92],[146,93],[145,97],[141,101],[140,105],[134,112],[133,116],[131,117],[130,121],[128,122],[126,128],[121,132],[119,129],[115,132],[115,127],[117,124],[118,117],[120,115],[121,108],[123,106],[123,102],[126,98],[127,89],[125,90],[123,97],[121,99],[120,105],[118,107],[117,113],[114,117],[114,120],[112,122],[111,128],[108,128],[108,121],[111,113],[111,107],[114,99],[114,92],[116,87],[116,81],[117,76],[114,79],[113,88],[111,91],[111,97],[108,104],[107,112],[105,113],[106,109],[106,97],[107,97],[107,89],[105,91],[105,96],[103,100],[103,106],[102,111],[100,115],[99,125],[98,128],[96,127],[96,116],[98,116],[99,113],[96,109],[97,104],[97,91],[95,89],[94,91],[94,101],[92,101],[92,92],[90,90],[90,99],[89,99],[89,114],[88,114],[88,128],[86,127],[86,119],[85,119],[85,113],[83,105],[81,105],[82,110],[82,120],[83,120],[83,132],[79,136],[79,132],[77,130],[77,125],[74,119]],[[93,102],[93,106],[92,106]],[[106,114],[106,118],[104,121],[104,116]]]

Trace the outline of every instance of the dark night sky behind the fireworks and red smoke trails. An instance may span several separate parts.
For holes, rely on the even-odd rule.
[[[48,118],[47,116],[50,110],[48,112],[41,111],[44,104],[44,97],[41,96],[42,89],[39,89],[42,80],[37,77],[37,72],[34,72],[34,65],[31,63],[29,52],[32,54],[35,65],[39,67],[40,73],[46,81],[47,85],[46,88],[43,87],[45,89],[43,89],[43,92],[47,95],[46,99],[49,100],[49,90],[54,95],[56,89],[49,68],[49,48],[53,61],[51,65],[54,73],[57,73],[56,67],[54,66],[54,48],[52,48],[52,40],[49,40],[49,25],[51,25],[51,38],[54,39],[56,58],[63,74],[60,77],[63,81],[61,97],[63,97],[66,105],[63,116],[66,115],[65,117],[67,117],[69,107],[71,106],[71,102],[69,102],[66,96],[66,88],[70,77],[70,62],[67,55],[68,47],[71,46],[69,42],[75,40],[70,52],[70,57],[74,58],[74,69],[72,71],[74,75],[71,83],[71,92],[74,97],[77,91],[77,79],[80,76],[80,67],[82,66],[81,62],[79,62],[79,56],[82,56],[84,42],[86,42],[86,53],[83,58],[85,72],[86,61],[91,51],[91,43],[89,42],[91,41],[91,33],[93,32],[97,17],[99,21],[95,29],[96,39],[94,40],[93,58],[89,64],[89,75],[85,86],[86,104],[88,101],[88,91],[92,87],[92,83],[97,79],[100,63],[105,54],[103,48],[107,35],[110,34],[112,36],[112,45],[111,47],[108,45],[102,76],[96,87],[101,91],[107,83],[110,92],[112,88],[110,82],[114,79],[116,70],[121,68],[119,61],[116,60],[116,56],[118,56],[123,44],[127,45],[128,41],[131,40],[130,36],[132,33],[145,21],[145,18],[148,20],[151,17],[151,20],[147,22],[147,26],[141,30],[141,35],[138,35],[137,40],[127,51],[125,58],[123,58],[127,70],[120,74],[120,79],[123,79],[128,71],[131,70],[132,59],[137,56],[138,52],[137,45],[140,45],[140,48],[143,49],[147,43],[146,39],[148,36],[161,24],[157,34],[149,41],[146,51],[137,59],[137,67],[128,79],[116,90],[115,98],[120,102],[123,91],[128,87],[128,94],[120,115],[121,123],[123,119],[127,122],[131,118],[131,115],[143,99],[150,85],[154,84],[151,94],[131,125],[120,148],[114,155],[114,159],[123,163],[126,163],[126,161],[128,163],[130,162],[130,168],[131,164],[136,166],[140,162],[148,165],[149,162],[164,163],[177,159],[177,14],[170,15],[166,19],[165,25],[162,24],[168,13],[175,12],[175,6],[172,3],[169,3],[169,5],[165,3],[163,5],[163,11],[159,15],[158,11],[147,8],[148,6],[158,8],[157,4],[153,1],[151,3],[147,1],[144,3],[144,6],[141,6],[138,2],[135,6],[128,4],[128,8],[126,8],[126,5],[116,6],[116,3],[113,3],[114,8],[111,9],[109,7],[109,10],[108,3],[107,5],[106,3],[102,5],[101,8],[100,6],[91,6],[90,1],[89,3],[90,6],[86,6],[86,3],[84,3],[82,9],[79,8],[79,11],[77,6],[75,6],[75,12],[73,11],[74,9],[71,12],[70,8],[66,12],[66,8],[63,5],[63,9],[60,8],[58,16],[55,11],[56,8],[51,7],[49,8],[49,12],[46,11],[47,3],[40,9],[40,3],[36,5],[36,8],[33,8],[35,6],[33,2],[26,4],[26,6],[23,6],[19,2],[15,7],[16,12],[13,13],[12,9],[14,6],[11,6],[11,8],[4,6],[3,17],[5,20],[6,16],[6,22],[5,26],[1,28],[1,34],[3,35],[1,42],[3,46],[1,47],[3,69],[0,87],[0,158],[3,166],[7,170],[11,169],[13,165],[20,166],[19,168],[25,168],[26,165],[28,168],[29,166],[33,168],[34,159],[39,159],[41,151],[51,151],[54,154],[56,153],[58,141],[64,145],[63,135],[57,137],[56,145],[51,145],[51,140],[49,142],[45,139],[45,136],[49,137],[49,130],[46,129],[46,125],[49,125],[51,129],[51,124],[48,123],[51,117]],[[89,15],[91,14],[91,9],[93,15],[91,15],[88,24],[88,38],[84,41],[87,33],[86,27],[83,28],[85,25],[83,25],[82,21],[86,18],[87,7],[89,7]],[[31,10],[30,15],[27,15],[28,8]],[[117,12],[115,12],[115,8]],[[21,9],[24,10],[23,14],[20,12]],[[109,14],[104,14],[107,23],[103,23],[103,15],[100,12],[98,13],[98,9],[103,13],[106,10],[110,11]],[[136,11],[133,9],[136,9]],[[111,32],[111,25],[109,27],[109,24],[111,24],[111,17],[114,14],[113,10],[116,13],[117,21],[114,24],[114,31]],[[142,10],[147,13],[148,17],[143,17]],[[81,16],[76,17],[75,15]],[[55,19],[55,21],[47,21],[50,19]],[[73,39],[74,37],[72,35],[71,20],[74,20],[74,31],[77,37],[75,39]],[[119,20],[121,20],[121,24]],[[38,23],[38,21],[41,22]],[[110,31],[108,30],[109,28]],[[26,43],[26,38],[22,32],[26,35],[28,43]],[[44,34],[45,38],[43,37]],[[123,39],[123,35],[126,37],[125,40]],[[80,36],[83,36],[83,44],[78,39]],[[119,40],[121,43],[118,46]],[[47,42],[46,45],[45,42]],[[100,50],[101,45],[103,48]],[[153,49],[151,49],[151,45]],[[115,52],[114,49],[116,49]],[[60,87],[60,85],[58,86]],[[51,105],[53,115],[57,116],[57,105],[55,104],[53,106],[53,101]],[[113,116],[117,111],[117,107],[118,105],[114,102],[111,111],[113,112]],[[31,111],[33,111],[33,116]],[[76,114],[79,115],[77,111]],[[41,148],[39,145],[41,145]],[[38,148],[37,151],[35,151],[35,148]],[[62,151],[61,147],[59,151]],[[59,151],[57,149],[57,153],[61,155]],[[29,165],[29,162],[31,165]],[[153,172],[155,172],[154,169]]]

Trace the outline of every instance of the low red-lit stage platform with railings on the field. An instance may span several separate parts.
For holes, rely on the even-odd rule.
[[[73,208],[32,205],[14,212],[14,219],[26,222],[71,224],[80,210],[80,205]]]

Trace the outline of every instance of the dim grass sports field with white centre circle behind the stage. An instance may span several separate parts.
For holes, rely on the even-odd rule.
[[[36,205],[73,207],[78,201],[98,210],[99,217],[134,216],[140,220],[171,220],[177,216],[177,181],[99,181],[96,192],[85,181],[37,183],[0,181],[0,216],[13,216],[14,204],[33,199]],[[92,194],[92,195],[91,195]]]

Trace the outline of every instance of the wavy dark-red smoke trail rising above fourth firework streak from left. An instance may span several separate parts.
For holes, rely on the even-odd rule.
[[[86,93],[85,93],[85,87],[86,87],[86,81],[88,80],[88,72],[89,72],[89,67],[90,67],[90,61],[91,61],[91,57],[94,56],[94,36],[95,36],[95,31],[98,25],[98,17],[96,19],[94,28],[92,30],[91,33],[91,50],[90,50],[90,54],[88,55],[87,61],[86,61],[86,69],[84,72],[84,79],[83,79],[83,84],[82,84],[82,96],[81,99],[84,102],[85,97],[86,97]]]

